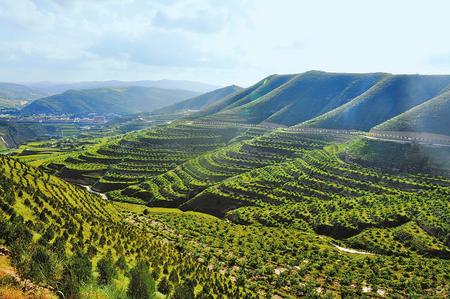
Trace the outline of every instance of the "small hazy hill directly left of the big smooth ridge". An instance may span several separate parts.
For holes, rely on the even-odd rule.
[[[187,99],[182,102],[175,103],[173,105],[158,109],[154,111],[154,113],[158,114],[171,114],[171,113],[179,113],[183,111],[189,110],[200,110],[205,108],[206,106],[212,105],[217,101],[228,97],[229,95],[235,94],[239,91],[243,90],[242,87],[231,85],[224,88],[216,89],[210,91],[208,93],[193,97],[191,99]]]

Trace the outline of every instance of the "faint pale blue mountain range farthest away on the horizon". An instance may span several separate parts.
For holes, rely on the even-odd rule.
[[[141,81],[88,81],[88,82],[33,82],[24,83],[27,86],[39,88],[50,94],[63,93],[70,89],[94,89],[94,88],[124,88],[131,86],[157,87],[163,89],[181,89],[190,90],[199,93],[205,93],[219,88],[219,86],[210,85],[202,82],[185,80],[141,80]]]

